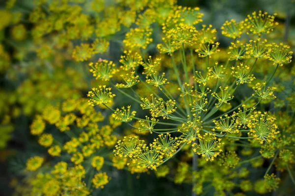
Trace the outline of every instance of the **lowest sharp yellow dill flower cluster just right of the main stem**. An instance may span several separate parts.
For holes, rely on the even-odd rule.
[[[194,143],[192,145],[193,151],[199,155],[202,155],[206,159],[206,161],[213,161],[217,155],[222,152],[221,138],[216,138],[214,134],[205,133],[205,135],[198,135],[199,143]]]

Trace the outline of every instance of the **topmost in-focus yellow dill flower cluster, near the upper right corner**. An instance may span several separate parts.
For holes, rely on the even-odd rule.
[[[278,25],[277,22],[274,22],[276,15],[276,13],[268,15],[267,12],[262,12],[261,10],[258,13],[253,12],[252,15],[248,15],[245,20],[246,27],[250,33],[254,35],[260,36],[262,33],[269,34],[273,31],[273,28]]]

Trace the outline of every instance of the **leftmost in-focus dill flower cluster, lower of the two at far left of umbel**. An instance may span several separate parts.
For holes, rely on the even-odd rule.
[[[106,85],[99,86],[98,88],[92,88],[92,91],[89,91],[87,97],[90,98],[89,105],[100,105],[111,103],[113,98],[116,96],[111,92],[112,88],[106,88]]]

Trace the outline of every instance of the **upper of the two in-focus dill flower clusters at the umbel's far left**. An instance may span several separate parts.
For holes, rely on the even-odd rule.
[[[100,79],[102,81],[109,81],[113,75],[119,71],[116,69],[116,65],[113,61],[108,61],[106,59],[99,59],[95,64],[91,62],[89,66],[91,67],[90,72],[95,79]]]

